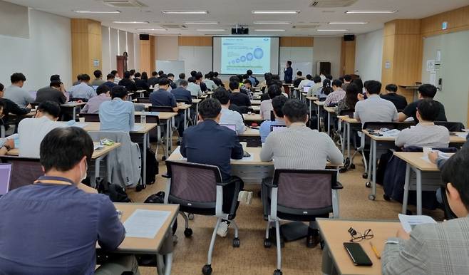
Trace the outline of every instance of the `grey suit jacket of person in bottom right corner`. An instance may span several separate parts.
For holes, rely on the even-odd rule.
[[[469,217],[421,224],[411,239],[391,238],[381,258],[383,274],[469,274]]]

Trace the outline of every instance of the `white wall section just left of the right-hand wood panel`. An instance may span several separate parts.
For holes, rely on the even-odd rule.
[[[381,81],[382,60],[383,29],[356,36],[355,73],[363,81]]]

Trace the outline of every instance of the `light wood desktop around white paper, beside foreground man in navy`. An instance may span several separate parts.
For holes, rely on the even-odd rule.
[[[166,219],[160,231],[153,239],[125,237],[122,244],[116,249],[120,252],[132,251],[140,253],[157,253],[165,240],[166,234],[171,229],[171,223],[177,216],[178,204],[138,204],[138,203],[114,203],[115,208],[122,211],[121,221],[125,222],[136,209],[169,211],[170,216]]]

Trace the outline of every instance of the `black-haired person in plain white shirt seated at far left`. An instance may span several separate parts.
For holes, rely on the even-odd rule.
[[[19,156],[39,158],[39,145],[43,138],[55,128],[65,127],[58,123],[60,106],[52,101],[38,105],[35,118],[25,118],[18,125]]]

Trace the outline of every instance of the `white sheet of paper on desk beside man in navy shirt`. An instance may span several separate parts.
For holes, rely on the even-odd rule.
[[[124,222],[125,236],[153,239],[170,214],[170,211],[137,209]]]

